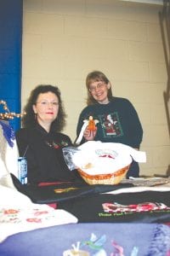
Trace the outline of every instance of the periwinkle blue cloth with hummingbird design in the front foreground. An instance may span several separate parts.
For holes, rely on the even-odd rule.
[[[77,241],[90,255],[166,256],[170,228],[165,224],[65,224],[9,236],[0,244],[0,255],[62,256]]]

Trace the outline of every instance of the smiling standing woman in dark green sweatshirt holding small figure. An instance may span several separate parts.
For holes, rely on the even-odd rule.
[[[112,96],[111,82],[100,71],[88,73],[86,79],[88,107],[82,110],[77,124],[77,136],[82,129],[83,120],[93,116],[98,120],[97,129],[83,132],[82,142],[89,140],[103,143],[122,143],[139,149],[143,129],[133,104],[125,98]],[[131,164],[127,177],[139,177],[139,164]]]

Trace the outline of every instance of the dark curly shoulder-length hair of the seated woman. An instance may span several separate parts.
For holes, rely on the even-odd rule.
[[[66,124],[66,114],[61,100],[60,90],[57,86],[51,84],[40,84],[37,85],[37,87],[34,90],[31,90],[31,95],[28,98],[27,104],[24,108],[26,115],[24,115],[21,119],[23,127],[27,128],[37,125],[37,119],[35,119],[35,113],[33,111],[32,106],[36,104],[37,97],[40,93],[46,93],[48,91],[53,92],[59,99],[59,112],[57,118],[54,119],[51,125],[51,130],[62,131],[64,129]]]

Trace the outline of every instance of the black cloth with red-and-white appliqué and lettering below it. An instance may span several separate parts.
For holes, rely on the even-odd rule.
[[[115,190],[115,194],[112,191],[77,198],[70,203],[61,201],[58,208],[71,212],[79,223],[167,223],[170,222],[169,197],[170,190],[119,194]]]

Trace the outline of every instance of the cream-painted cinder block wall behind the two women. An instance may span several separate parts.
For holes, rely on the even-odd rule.
[[[86,106],[86,75],[104,72],[115,96],[133,102],[144,128],[142,175],[166,174],[170,155],[163,91],[162,6],[114,0],[25,0],[22,107],[37,84],[58,85],[74,141]]]

